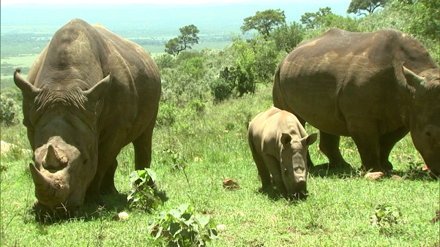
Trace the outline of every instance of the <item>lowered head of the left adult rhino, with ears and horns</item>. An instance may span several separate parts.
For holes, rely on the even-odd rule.
[[[88,90],[74,83],[36,88],[14,73],[23,93],[23,124],[34,150],[30,172],[36,205],[41,208],[81,206],[98,165],[98,102],[107,91],[110,75]],[[28,110],[24,110],[27,108]]]

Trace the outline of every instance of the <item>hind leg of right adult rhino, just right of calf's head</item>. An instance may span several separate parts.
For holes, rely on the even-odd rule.
[[[344,167],[350,165],[344,158],[339,150],[340,136],[328,134],[320,131],[320,150],[329,158],[329,167]]]

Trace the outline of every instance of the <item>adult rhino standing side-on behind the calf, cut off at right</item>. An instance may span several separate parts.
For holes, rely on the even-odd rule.
[[[274,106],[320,130],[329,165],[347,164],[340,136],[352,137],[366,170],[386,172],[391,149],[408,132],[432,172],[440,172],[439,67],[398,30],[333,28],[300,43],[278,66]]]

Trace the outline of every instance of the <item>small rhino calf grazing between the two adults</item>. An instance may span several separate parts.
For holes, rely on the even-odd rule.
[[[300,121],[272,107],[250,122],[248,140],[259,171],[262,190],[272,182],[284,196],[303,198],[307,193],[307,151],[317,134],[305,132]]]

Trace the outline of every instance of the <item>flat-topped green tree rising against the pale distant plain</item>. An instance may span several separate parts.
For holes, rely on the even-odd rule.
[[[264,37],[270,36],[270,32],[274,27],[286,23],[286,16],[284,10],[265,10],[257,11],[254,16],[249,16],[243,19],[244,23],[241,26],[243,34],[249,30],[256,30]]]

